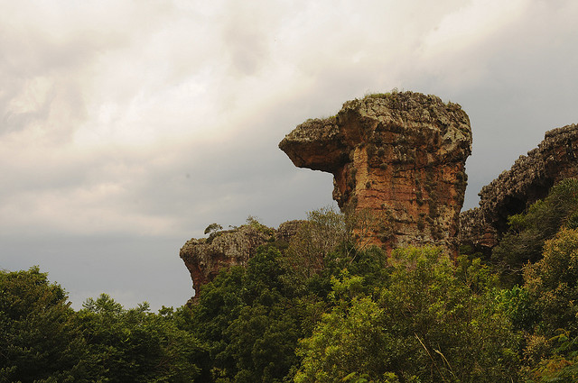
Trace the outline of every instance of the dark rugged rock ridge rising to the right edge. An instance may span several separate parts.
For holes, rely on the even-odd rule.
[[[480,206],[461,213],[460,240],[488,252],[508,230],[508,216],[547,196],[556,182],[578,177],[578,126],[545,133],[536,149],[520,156],[480,191]]]

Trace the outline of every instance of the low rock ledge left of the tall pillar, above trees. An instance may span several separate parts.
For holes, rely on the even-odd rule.
[[[212,281],[221,269],[247,266],[256,249],[270,241],[288,242],[303,221],[281,223],[279,229],[263,225],[242,225],[233,230],[213,233],[209,238],[192,238],[185,242],[180,257],[189,269],[195,296],[200,287]]]

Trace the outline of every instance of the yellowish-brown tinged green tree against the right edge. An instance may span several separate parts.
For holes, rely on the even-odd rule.
[[[524,268],[524,286],[500,291],[512,323],[525,335],[527,382],[578,378],[578,230],[545,241],[543,257]]]

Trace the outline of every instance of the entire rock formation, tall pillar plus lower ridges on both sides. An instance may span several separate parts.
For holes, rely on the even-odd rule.
[[[469,118],[460,105],[412,92],[348,101],[333,117],[300,124],[279,147],[296,166],[333,174],[341,210],[371,223],[359,225],[359,242],[387,251],[433,243],[456,254],[462,243],[488,253],[507,231],[509,215],[545,197],[556,182],[578,177],[573,124],[546,132],[536,149],[481,189],[479,207],[460,214]],[[290,242],[302,223],[274,230],[249,222],[186,242],[180,255],[195,296],[221,269],[246,266],[258,246]]]

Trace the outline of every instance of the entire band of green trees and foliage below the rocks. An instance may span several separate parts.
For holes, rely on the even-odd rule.
[[[38,268],[0,271],[0,382],[578,381],[577,192],[512,217],[499,261],[387,257],[322,209],[156,314],[104,294],[74,311]]]

